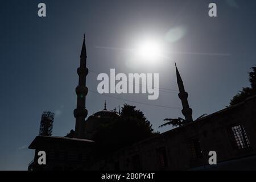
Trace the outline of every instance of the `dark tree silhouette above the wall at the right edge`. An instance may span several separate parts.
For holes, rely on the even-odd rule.
[[[230,106],[245,101],[246,98],[256,94],[256,67],[252,67],[251,69],[253,69],[252,72],[249,72],[249,81],[251,87],[243,88],[242,91],[240,91],[240,93],[236,94],[236,96],[234,96],[232,100],[230,100]]]

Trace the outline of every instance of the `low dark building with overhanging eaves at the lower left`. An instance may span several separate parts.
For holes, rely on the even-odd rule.
[[[29,171],[89,170],[94,160],[92,140],[38,136],[28,148],[35,149],[34,160],[28,166]],[[39,151],[46,152],[46,165],[38,164]]]

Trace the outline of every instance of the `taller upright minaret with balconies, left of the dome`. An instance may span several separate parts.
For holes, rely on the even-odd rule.
[[[77,68],[77,74],[79,75],[79,85],[76,87],[77,104],[74,110],[74,116],[76,118],[75,138],[82,138],[84,135],[84,122],[88,114],[85,109],[85,97],[88,93],[86,87],[86,76],[88,75],[88,68],[86,68],[86,47],[85,47],[85,35],[84,42],[82,43],[82,51],[80,55],[80,67]]]

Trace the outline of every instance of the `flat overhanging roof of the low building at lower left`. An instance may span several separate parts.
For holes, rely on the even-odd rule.
[[[93,140],[80,139],[80,138],[67,138],[67,137],[52,137],[52,136],[37,136],[28,148],[36,149],[43,144],[55,144],[55,143],[64,143],[64,144],[93,144]]]

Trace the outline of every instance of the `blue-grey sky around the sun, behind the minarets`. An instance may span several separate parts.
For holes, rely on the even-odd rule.
[[[47,16],[39,18],[38,4]],[[209,17],[208,5],[217,5]],[[53,135],[75,128],[85,33],[88,117],[124,103],[136,105],[160,133],[164,118],[183,117],[174,61],[188,92],[193,118],[224,109],[256,63],[256,1],[0,1],[0,170],[27,170],[28,146],[43,111],[53,111]],[[157,40],[163,56],[154,63],[135,56],[143,41]],[[130,51],[133,50],[133,51]],[[97,93],[98,73],[159,73],[158,100],[147,94]],[[164,91],[164,92],[163,92]],[[131,102],[133,101],[133,102]],[[139,102],[139,103],[138,103]],[[157,105],[157,106],[156,106]]]

